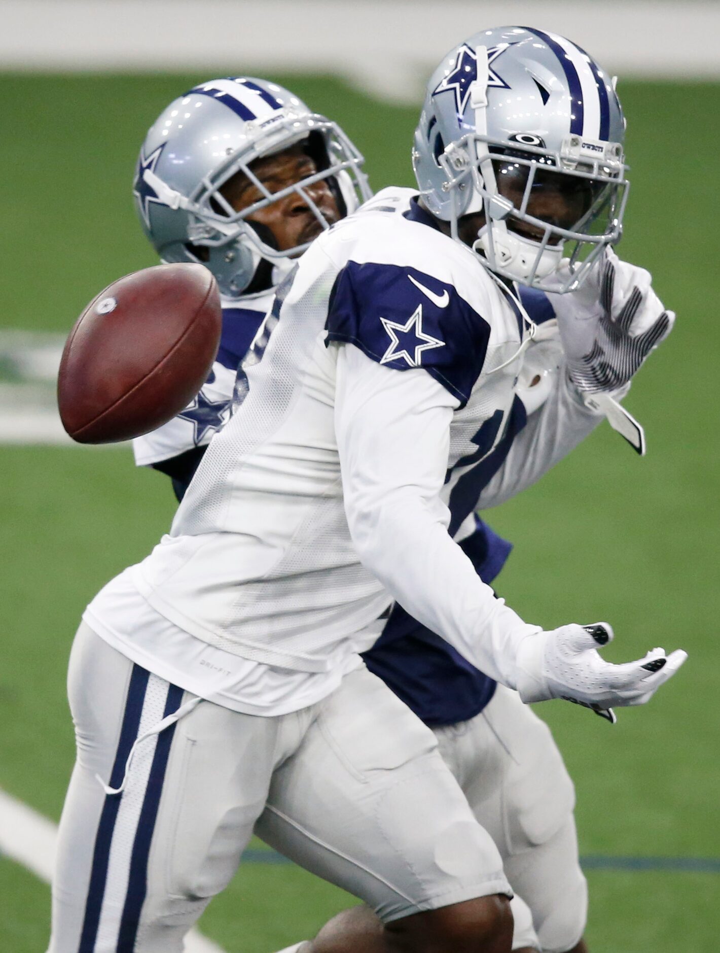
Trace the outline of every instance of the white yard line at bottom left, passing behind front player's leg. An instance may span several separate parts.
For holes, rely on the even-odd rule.
[[[57,827],[48,818],[0,790],[0,854],[50,883],[57,848]],[[221,946],[191,930],[185,953],[224,953]]]

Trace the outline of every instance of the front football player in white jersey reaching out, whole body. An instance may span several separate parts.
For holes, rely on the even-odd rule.
[[[325,949],[510,949],[497,847],[356,653],[396,602],[522,700],[601,711],[649,700],[684,660],[610,665],[609,626],[526,623],[453,539],[478,498],[586,436],[603,400],[584,395],[622,393],[670,330],[608,253],[622,123],[590,64],[538,30],[471,37],[430,83],[420,200],[384,193],[282,283],[170,535],[75,640],[53,951],[179,949],[263,812],[284,853],[379,917]],[[524,427],[517,279],[574,298],[555,307],[563,373]]]

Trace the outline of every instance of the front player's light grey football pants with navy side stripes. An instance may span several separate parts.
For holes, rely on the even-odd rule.
[[[290,715],[201,701],[149,735],[189,697],[83,623],[69,696],[50,953],[180,953],[261,815],[283,853],[386,922],[511,893],[434,735],[365,668]]]

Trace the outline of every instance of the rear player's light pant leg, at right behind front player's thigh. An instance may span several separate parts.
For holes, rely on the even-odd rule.
[[[574,787],[550,729],[516,692],[498,685],[474,719],[434,733],[500,851],[510,886],[530,907],[539,945],[548,953],[571,950],[585,931],[588,884],[578,857]]]

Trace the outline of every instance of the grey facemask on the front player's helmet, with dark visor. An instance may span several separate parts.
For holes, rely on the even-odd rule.
[[[465,215],[483,213],[472,248],[494,274],[541,290],[571,291],[605,247],[620,239],[629,183],[616,143],[570,135],[559,152],[550,152],[470,133],[438,161],[452,201],[450,233],[458,237]],[[558,286],[552,275],[563,259],[569,276]]]

